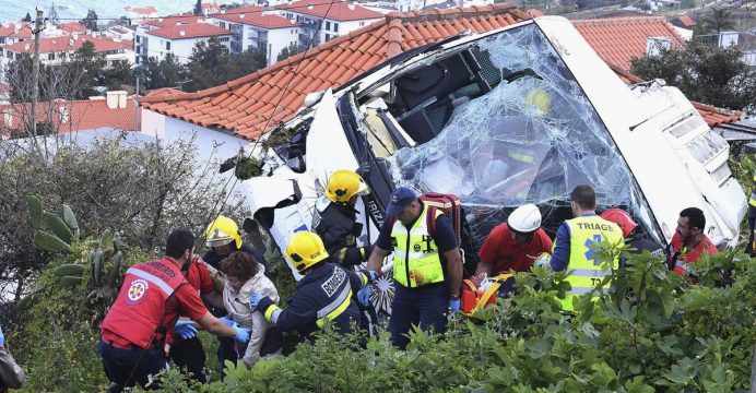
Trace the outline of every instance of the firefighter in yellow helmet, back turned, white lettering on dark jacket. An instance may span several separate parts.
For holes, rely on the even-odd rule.
[[[374,272],[353,272],[328,260],[323,241],[316,234],[298,231],[286,246],[286,258],[304,275],[286,309],[281,309],[268,296],[255,293],[250,305],[281,331],[296,330],[306,340],[326,321],[343,333],[352,331],[359,320],[353,294],[376,277]]]

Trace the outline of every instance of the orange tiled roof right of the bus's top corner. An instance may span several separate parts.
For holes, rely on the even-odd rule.
[[[685,39],[664,16],[612,17],[572,21],[575,28],[607,63],[630,69],[630,59],[646,53],[649,37],[668,37],[682,47]]]

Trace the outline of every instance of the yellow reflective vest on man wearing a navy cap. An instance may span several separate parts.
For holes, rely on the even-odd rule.
[[[391,238],[393,247],[393,279],[405,287],[418,287],[444,281],[441,258],[436,241],[428,231],[428,204],[423,204],[423,212],[411,228],[399,219],[393,223]],[[433,210],[438,219],[444,214]]]

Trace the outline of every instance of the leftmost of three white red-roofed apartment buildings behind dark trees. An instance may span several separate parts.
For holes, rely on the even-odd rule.
[[[194,45],[213,37],[231,50],[232,32],[200,16],[172,16],[146,21],[137,29],[137,62],[141,64],[147,57],[163,60],[167,53],[173,53],[179,62],[187,63]]]

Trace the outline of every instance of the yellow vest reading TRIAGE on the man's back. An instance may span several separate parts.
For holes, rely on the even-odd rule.
[[[571,289],[562,302],[562,308],[574,311],[572,298],[578,295],[591,293],[604,277],[612,274],[612,270],[619,267],[619,259],[612,261],[611,270],[603,270],[594,251],[591,250],[593,243],[601,243],[609,240],[612,245],[625,243],[622,237],[622,229],[606,219],[596,215],[581,216],[565,222],[569,227],[569,262],[567,271],[572,272],[566,281],[571,285]],[[556,243],[554,245],[556,246]],[[601,289],[602,293],[609,290],[609,284]],[[594,294],[596,298],[599,294]]]

